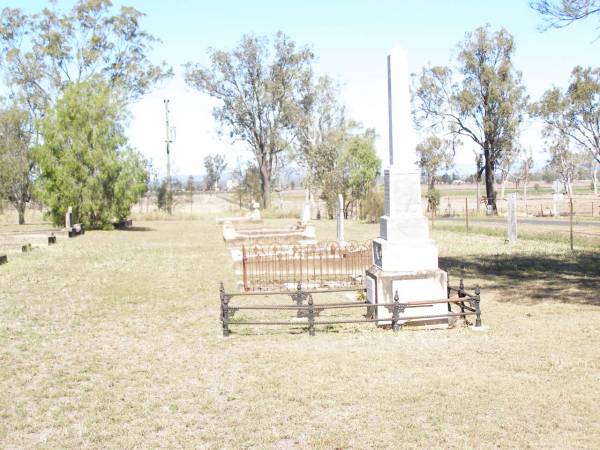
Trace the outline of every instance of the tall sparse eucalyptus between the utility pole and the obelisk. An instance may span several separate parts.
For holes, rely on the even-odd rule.
[[[260,173],[262,206],[274,169],[291,148],[307,101],[314,55],[288,36],[244,35],[231,51],[209,49],[210,67],[188,63],[186,82],[218,100],[213,115],[233,141],[248,145]]]

